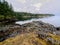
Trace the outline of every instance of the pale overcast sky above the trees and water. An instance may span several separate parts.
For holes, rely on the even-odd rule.
[[[6,0],[15,11],[60,14],[60,0]]]

